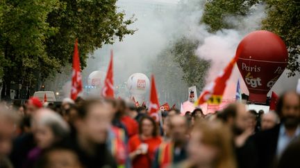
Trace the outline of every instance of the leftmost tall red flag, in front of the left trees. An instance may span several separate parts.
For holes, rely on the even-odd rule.
[[[81,67],[78,53],[78,41],[76,39],[74,46],[74,55],[73,55],[73,74],[72,74],[72,89],[71,89],[71,98],[76,100],[77,95],[83,90],[82,81],[81,81]]]

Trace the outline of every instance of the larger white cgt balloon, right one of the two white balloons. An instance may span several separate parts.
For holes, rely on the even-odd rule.
[[[133,73],[127,80],[131,95],[144,95],[150,88],[149,78],[142,73]]]

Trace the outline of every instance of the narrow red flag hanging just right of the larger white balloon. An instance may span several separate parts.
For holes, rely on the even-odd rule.
[[[159,111],[159,102],[156,92],[156,84],[154,76],[151,75],[151,92],[150,92],[150,104],[149,104],[149,114],[158,122],[158,111]]]

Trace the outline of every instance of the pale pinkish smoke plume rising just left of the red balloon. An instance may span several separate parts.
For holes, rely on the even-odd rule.
[[[265,6],[256,4],[251,7],[249,15],[247,16],[228,16],[224,19],[226,23],[231,24],[235,29],[223,29],[214,34],[207,33],[200,37],[203,43],[197,49],[197,55],[204,59],[212,61],[211,68],[208,72],[206,82],[212,82],[217,74],[230,62],[231,58],[235,56],[236,48],[242,38],[249,32],[259,30],[261,21],[265,18]],[[206,31],[203,26],[199,27],[201,31]],[[233,75],[227,83],[227,88],[224,93],[224,98],[235,97],[235,86],[240,77],[237,67],[233,70]],[[242,93],[249,93],[243,80],[240,80]]]

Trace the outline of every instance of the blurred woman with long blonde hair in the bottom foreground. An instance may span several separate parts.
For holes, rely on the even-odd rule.
[[[218,120],[201,120],[195,124],[188,154],[188,160],[178,167],[236,168],[231,131]]]

